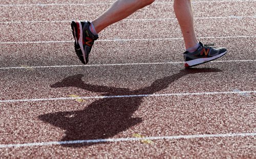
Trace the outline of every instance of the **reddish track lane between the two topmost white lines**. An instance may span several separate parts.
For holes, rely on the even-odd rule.
[[[73,2],[72,4],[74,4]],[[86,2],[87,3],[87,2]],[[31,21],[31,20],[72,20],[72,19],[87,19],[93,20],[101,15],[110,7],[108,1],[103,4],[107,5],[79,5],[79,6],[0,6],[4,11],[0,13],[0,21]],[[95,2],[96,3],[96,2]],[[80,3],[82,4],[82,3]],[[101,2],[102,4],[102,2]],[[195,17],[205,16],[255,16],[253,1],[240,2],[202,2],[194,3]],[[232,6],[232,10],[230,10]],[[74,9],[74,7],[76,9]],[[84,9],[90,8],[90,10]],[[204,10],[202,8],[207,8]],[[22,12],[15,12],[16,9]],[[228,11],[227,11],[228,10]],[[63,14],[65,13],[65,14]],[[94,14],[92,14],[94,13]],[[26,16],[25,16],[26,15]],[[131,15],[129,19],[140,18],[174,18],[173,3],[161,4],[153,3],[146,8],[137,11]]]

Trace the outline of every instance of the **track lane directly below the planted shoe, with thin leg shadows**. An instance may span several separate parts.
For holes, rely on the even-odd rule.
[[[75,67],[42,69],[46,71],[2,71],[1,100],[59,98],[73,94],[104,96],[255,91],[253,68],[255,62],[210,63],[189,70],[184,69],[182,65],[165,64],[88,67],[86,70],[83,67]],[[153,92],[146,89],[156,87],[160,81],[163,82],[162,89]],[[105,92],[104,89],[95,91],[92,89],[94,86],[107,90],[115,89],[112,93]]]

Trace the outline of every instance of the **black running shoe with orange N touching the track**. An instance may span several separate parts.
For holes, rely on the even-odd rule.
[[[200,45],[195,52],[184,52],[186,68],[218,59],[227,53],[227,49],[224,47],[210,47],[214,46],[214,44],[203,45],[200,42]]]

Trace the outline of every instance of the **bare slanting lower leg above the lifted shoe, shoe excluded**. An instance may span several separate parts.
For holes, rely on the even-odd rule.
[[[154,1],[155,0],[117,0],[100,17],[93,20],[92,23],[96,32],[99,33],[107,26],[126,18],[138,9],[152,4]]]

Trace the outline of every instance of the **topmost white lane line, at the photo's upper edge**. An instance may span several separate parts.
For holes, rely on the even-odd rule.
[[[237,2],[255,2],[255,0],[223,0],[223,1],[193,1],[192,4],[197,3],[237,3]],[[96,5],[112,5],[112,3],[84,3],[84,4],[1,4],[0,7],[26,7],[26,6],[37,6],[37,7],[45,7],[45,6],[96,6]],[[161,5],[161,4],[173,4],[173,2],[155,2],[153,5]]]

